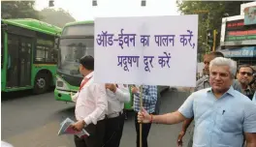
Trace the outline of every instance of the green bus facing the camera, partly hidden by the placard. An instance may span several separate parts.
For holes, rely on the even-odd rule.
[[[57,64],[56,87],[54,98],[57,101],[72,102],[71,92],[76,93],[82,76],[79,71],[80,58],[84,55],[94,56],[93,21],[72,22],[63,28],[58,42],[59,56]],[[159,91],[169,86],[159,86]],[[132,109],[133,98],[125,103],[125,109]]]

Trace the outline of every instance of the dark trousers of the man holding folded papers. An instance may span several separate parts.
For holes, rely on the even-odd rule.
[[[85,130],[89,132],[89,136],[86,138],[80,138],[75,135],[76,147],[102,147],[104,146],[104,135],[106,129],[106,120],[98,121],[96,125],[90,124],[85,127]]]

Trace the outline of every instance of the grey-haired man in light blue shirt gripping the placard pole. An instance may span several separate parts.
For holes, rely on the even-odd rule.
[[[211,88],[191,94],[176,112],[149,115],[139,112],[140,123],[177,124],[194,117],[193,146],[240,147],[243,136],[247,147],[256,145],[256,105],[234,90],[233,79],[237,64],[231,59],[217,57],[209,64]]]

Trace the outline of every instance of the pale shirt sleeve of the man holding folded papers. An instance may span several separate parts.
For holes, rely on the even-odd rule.
[[[84,122],[86,125],[89,125],[90,123],[96,125],[98,118],[104,116],[108,111],[106,88],[104,84],[93,83],[92,85],[90,85],[89,90],[94,97],[96,109],[84,118]]]

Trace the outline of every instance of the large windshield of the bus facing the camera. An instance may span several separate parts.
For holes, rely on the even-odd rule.
[[[58,72],[80,76],[80,58],[93,56],[93,39],[61,39],[59,43]]]

